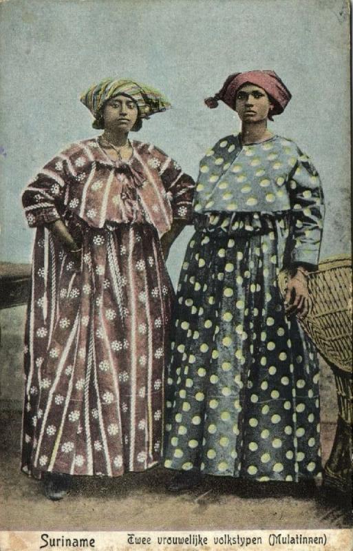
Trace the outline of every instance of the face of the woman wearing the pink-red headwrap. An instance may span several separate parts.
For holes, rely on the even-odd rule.
[[[244,84],[237,91],[235,111],[241,121],[258,123],[267,120],[268,112],[272,107],[265,90],[255,84]]]

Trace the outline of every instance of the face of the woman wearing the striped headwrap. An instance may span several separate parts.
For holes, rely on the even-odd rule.
[[[138,118],[138,106],[129,96],[115,96],[105,103],[104,128],[114,132],[129,132]]]

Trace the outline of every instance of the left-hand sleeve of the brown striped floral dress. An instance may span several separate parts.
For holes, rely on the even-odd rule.
[[[56,156],[30,181],[22,195],[30,227],[58,220],[67,189],[66,160]]]

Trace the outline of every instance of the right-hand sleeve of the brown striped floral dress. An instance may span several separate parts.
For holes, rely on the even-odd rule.
[[[191,176],[182,171],[175,160],[160,150],[158,153],[162,156],[159,168],[160,178],[171,202],[173,219],[191,222],[195,182]]]

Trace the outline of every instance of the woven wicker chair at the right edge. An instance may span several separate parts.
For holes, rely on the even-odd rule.
[[[288,272],[279,274],[284,295]],[[335,256],[308,275],[312,306],[299,323],[334,373],[339,417],[324,484],[342,492],[352,486],[352,258]]]

